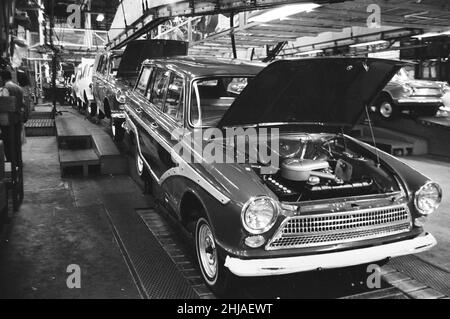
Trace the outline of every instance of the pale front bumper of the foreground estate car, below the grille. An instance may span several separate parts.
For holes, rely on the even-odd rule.
[[[413,239],[395,243],[318,255],[268,259],[239,259],[227,256],[225,267],[240,277],[284,275],[361,265],[386,258],[419,253],[434,245],[436,245],[436,239],[433,235],[425,233]]]

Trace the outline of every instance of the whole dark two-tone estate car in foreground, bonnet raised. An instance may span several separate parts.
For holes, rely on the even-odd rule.
[[[143,63],[125,103],[136,171],[193,235],[213,290],[238,277],[381,262],[435,245],[422,224],[439,205],[439,185],[347,134],[402,65],[366,58]],[[250,128],[266,137],[278,130],[270,134],[274,161],[259,152],[250,160],[246,138],[245,160],[237,161],[237,143],[217,134]],[[216,135],[205,133],[211,129]],[[202,158],[198,140],[189,139],[199,133],[200,147],[213,143],[227,160]],[[180,145],[200,160],[180,154]]]

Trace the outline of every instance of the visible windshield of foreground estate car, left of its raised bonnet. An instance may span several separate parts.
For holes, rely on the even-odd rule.
[[[234,99],[247,86],[249,77],[208,77],[194,81],[191,93],[190,124],[214,127]]]

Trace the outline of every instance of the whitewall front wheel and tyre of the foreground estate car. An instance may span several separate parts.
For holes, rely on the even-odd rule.
[[[216,239],[204,217],[197,220],[195,227],[195,250],[203,279],[216,293],[225,293],[229,287],[230,272],[220,260]]]

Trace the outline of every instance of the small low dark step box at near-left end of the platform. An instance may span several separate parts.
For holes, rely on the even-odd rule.
[[[61,174],[76,174],[80,171],[83,176],[99,170],[100,159],[92,149],[84,150],[59,150],[59,163],[61,165]]]

